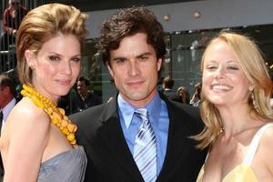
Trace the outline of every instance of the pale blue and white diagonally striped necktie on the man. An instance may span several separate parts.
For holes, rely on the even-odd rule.
[[[136,134],[134,159],[143,179],[154,182],[157,179],[156,135],[148,119],[147,109],[136,109],[135,115],[141,118],[142,124]]]

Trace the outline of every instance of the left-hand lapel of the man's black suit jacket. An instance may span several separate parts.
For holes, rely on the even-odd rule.
[[[99,135],[105,143],[107,149],[114,157],[116,162],[132,177],[135,181],[143,181],[134,158],[126,144],[126,139],[123,135],[120,126],[119,116],[116,108],[116,98],[109,102],[101,117],[103,127]]]

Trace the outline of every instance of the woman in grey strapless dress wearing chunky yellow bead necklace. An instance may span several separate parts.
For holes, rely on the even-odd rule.
[[[83,181],[86,154],[76,146],[76,125],[56,107],[80,71],[86,15],[49,4],[30,11],[17,35],[23,99],[1,133],[4,181]]]

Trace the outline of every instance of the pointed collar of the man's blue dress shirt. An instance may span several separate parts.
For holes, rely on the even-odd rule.
[[[132,106],[127,103],[126,100],[120,96],[120,94],[117,96],[117,104],[119,108],[119,114],[123,116],[126,128],[128,128],[131,125],[136,106]],[[157,118],[157,115],[160,113],[161,109],[161,98],[158,93],[156,96],[154,96],[152,101],[148,103],[147,106],[145,106],[145,108],[148,110],[149,117]],[[155,119],[155,121],[157,121],[157,119]]]

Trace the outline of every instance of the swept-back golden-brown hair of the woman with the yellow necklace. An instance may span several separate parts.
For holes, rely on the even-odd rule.
[[[61,4],[41,5],[25,15],[16,35],[18,77],[22,84],[32,84],[32,70],[26,63],[25,50],[37,55],[42,45],[59,33],[76,35],[83,45],[87,35],[86,18],[76,7]]]

